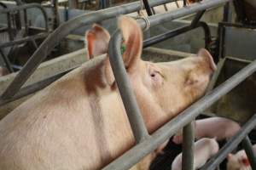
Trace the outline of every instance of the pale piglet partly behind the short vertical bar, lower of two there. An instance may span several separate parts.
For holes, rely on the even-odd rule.
[[[195,142],[194,168],[202,167],[211,156],[218,152],[216,139],[203,138]],[[172,170],[182,170],[182,153],[172,161]]]

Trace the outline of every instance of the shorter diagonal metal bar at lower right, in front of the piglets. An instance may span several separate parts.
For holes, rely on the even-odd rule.
[[[248,122],[246,122],[241,129],[231,137],[226,144],[218,151],[215,156],[212,156],[210,161],[201,167],[201,170],[214,170],[218,167],[218,164],[221,163],[226,156],[236,149],[236,146],[241,143],[241,140],[247,136],[247,133],[250,133],[256,125],[256,114],[254,114]]]

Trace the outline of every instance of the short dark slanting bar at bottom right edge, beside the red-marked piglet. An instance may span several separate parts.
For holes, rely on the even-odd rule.
[[[250,161],[251,167],[253,168],[253,170],[256,170],[256,156],[255,152],[253,151],[253,144],[251,143],[248,136],[241,141],[241,145],[247,153],[247,157]]]

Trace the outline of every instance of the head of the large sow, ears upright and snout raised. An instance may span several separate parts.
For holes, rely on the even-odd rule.
[[[201,49],[195,57],[173,62],[143,61],[143,33],[136,20],[120,17],[119,29],[125,45],[125,68],[144,121],[152,132],[204,94],[215,65],[206,49]],[[108,55],[108,31],[93,26],[86,35],[90,58],[97,54]],[[104,82],[117,90],[108,57],[104,67]]]

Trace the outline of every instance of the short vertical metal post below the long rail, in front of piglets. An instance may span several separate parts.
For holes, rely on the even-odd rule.
[[[183,155],[182,169],[194,170],[194,150],[195,150],[195,130],[194,123],[189,122],[183,127]]]

